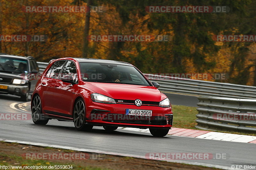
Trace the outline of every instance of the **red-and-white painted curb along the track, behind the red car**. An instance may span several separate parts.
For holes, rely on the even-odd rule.
[[[120,128],[120,129],[150,133],[148,129],[135,129],[135,128]],[[172,128],[169,131],[168,135],[256,144],[256,136],[211,132],[211,131],[205,131],[205,130]]]

